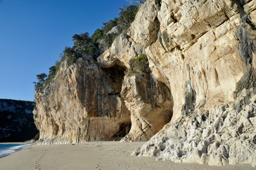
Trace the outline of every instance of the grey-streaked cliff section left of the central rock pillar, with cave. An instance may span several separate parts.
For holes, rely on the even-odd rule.
[[[55,79],[35,93],[37,143],[120,140],[131,128],[120,96],[123,76],[122,67],[99,68],[91,57],[62,63]]]

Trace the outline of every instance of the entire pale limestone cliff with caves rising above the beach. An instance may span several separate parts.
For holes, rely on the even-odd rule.
[[[147,0],[97,62],[62,64],[36,93],[41,141],[148,140],[162,129],[134,155],[256,166],[255,9],[254,0]],[[141,54],[147,71],[133,69]]]

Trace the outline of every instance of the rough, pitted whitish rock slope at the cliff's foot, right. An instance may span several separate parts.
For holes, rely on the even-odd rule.
[[[197,109],[193,114],[166,126],[142,148],[139,156],[157,160],[209,165],[251,163],[255,166],[256,98],[248,94],[236,103]],[[248,103],[249,102],[249,103]]]

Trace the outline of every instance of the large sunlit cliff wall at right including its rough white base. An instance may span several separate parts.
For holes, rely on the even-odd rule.
[[[255,1],[149,0],[127,36],[173,96],[171,122],[135,155],[255,166]],[[125,58],[125,57],[122,57]]]

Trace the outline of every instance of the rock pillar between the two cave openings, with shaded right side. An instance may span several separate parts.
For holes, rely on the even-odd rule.
[[[121,141],[147,141],[172,118],[172,95],[151,74],[125,76],[121,96],[131,111],[132,128]]]

